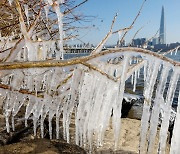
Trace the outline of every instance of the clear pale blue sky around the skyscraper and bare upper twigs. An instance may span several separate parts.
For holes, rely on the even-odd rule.
[[[80,0],[78,0],[80,1]],[[89,0],[79,11],[96,18],[90,23],[83,23],[90,28],[83,30],[81,40],[97,44],[109,31],[112,19],[116,13],[118,17],[114,30],[128,27],[137,15],[143,0]],[[165,9],[166,42],[180,42],[180,0],[147,0],[141,15],[132,30],[126,36],[128,43],[135,32],[145,25],[136,38],[151,38],[160,26],[161,9]],[[116,44],[118,34],[114,35],[107,44]]]

